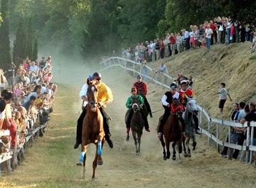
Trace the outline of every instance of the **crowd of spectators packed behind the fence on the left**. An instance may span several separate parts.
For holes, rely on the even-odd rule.
[[[0,152],[6,152],[4,148],[9,142],[11,149],[15,147],[16,132],[20,134],[17,140],[19,149],[36,126],[49,120],[57,91],[57,85],[52,82],[52,65],[49,56],[40,61],[27,57],[17,70],[13,62],[7,70],[0,67],[0,130],[10,132],[9,140],[6,136],[0,140],[3,143]]]

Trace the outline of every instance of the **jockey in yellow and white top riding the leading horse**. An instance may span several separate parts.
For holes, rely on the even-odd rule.
[[[83,101],[88,101],[86,94],[87,94],[87,89],[88,85],[92,83],[94,85],[98,86],[98,100],[100,103],[100,113],[102,114],[103,117],[103,127],[104,127],[104,132],[105,132],[105,139],[106,142],[108,142],[108,145],[110,148],[113,148],[113,142],[110,140],[110,130],[109,130],[109,123],[108,119],[109,116],[105,111],[106,104],[110,103],[113,101],[113,95],[112,91],[108,86],[106,86],[104,83],[101,82],[101,75],[100,73],[94,73],[92,77],[89,77],[87,80],[86,85],[82,87],[82,90],[80,91],[79,95],[82,98]],[[82,111],[80,117],[77,120],[77,136],[76,136],[76,142],[74,148],[78,148],[79,144],[82,143],[82,128],[83,128],[83,121],[84,117],[86,116],[86,107]]]

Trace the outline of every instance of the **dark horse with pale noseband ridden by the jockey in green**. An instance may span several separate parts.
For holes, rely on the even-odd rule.
[[[131,104],[131,109],[128,109],[125,113],[125,124],[127,124],[127,118],[129,111],[133,110],[133,116],[131,118],[131,132],[133,134],[133,140],[136,149],[136,155],[140,154],[140,144],[141,144],[141,135],[144,127],[143,118],[139,112],[139,99],[133,98],[133,103]],[[127,142],[129,141],[129,133],[127,133]],[[138,146],[139,145],[139,146]]]

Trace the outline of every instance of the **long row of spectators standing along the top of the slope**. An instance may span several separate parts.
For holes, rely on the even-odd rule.
[[[194,48],[210,49],[210,45],[226,44],[234,42],[253,42],[251,52],[256,48],[256,32],[251,24],[243,24],[240,21],[233,21],[230,17],[215,17],[213,20],[205,21],[199,26],[189,26],[189,31],[182,29],[176,33],[167,33],[162,38],[137,43],[135,47],[122,49],[124,58],[142,62],[159,60],[174,56],[185,50]],[[115,53],[112,56],[116,56]],[[102,57],[102,60],[107,58]]]

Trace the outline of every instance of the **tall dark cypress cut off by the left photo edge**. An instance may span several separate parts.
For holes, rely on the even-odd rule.
[[[6,70],[11,63],[10,40],[9,40],[9,1],[1,1],[1,17],[3,22],[0,26],[0,64]]]

